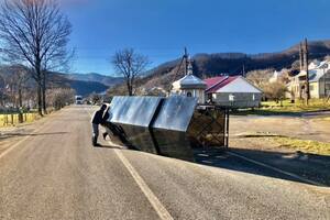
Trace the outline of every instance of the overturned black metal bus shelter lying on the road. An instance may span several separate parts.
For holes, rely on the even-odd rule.
[[[228,147],[228,110],[196,98],[114,97],[109,111],[119,145],[186,161],[194,161],[194,147]]]

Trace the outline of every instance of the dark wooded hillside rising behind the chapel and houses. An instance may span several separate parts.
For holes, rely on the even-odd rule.
[[[309,58],[323,58],[330,55],[330,40],[314,41],[308,44]],[[245,53],[216,53],[196,54],[193,56],[194,74],[198,77],[211,77],[221,74],[241,75],[256,69],[290,68],[299,59],[299,44],[276,53],[245,54]],[[164,63],[153,69],[140,80],[141,87],[168,88],[177,78],[183,76],[183,70],[177,72],[180,58]],[[178,73],[178,75],[176,75]]]

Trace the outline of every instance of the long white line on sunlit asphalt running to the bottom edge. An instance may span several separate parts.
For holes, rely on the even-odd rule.
[[[91,113],[87,111],[87,113],[91,117]],[[109,142],[110,145],[113,143]],[[170,216],[170,213],[167,211],[167,209],[162,205],[160,199],[154,195],[154,193],[150,189],[147,184],[143,180],[143,178],[140,176],[138,170],[132,166],[132,164],[129,162],[129,160],[122,154],[120,150],[113,150],[119,160],[122,162],[122,164],[125,166],[125,168],[129,170],[129,173],[132,175],[133,179],[142,190],[142,193],[145,195],[152,207],[157,212],[158,217],[162,220],[174,220],[174,218]]]

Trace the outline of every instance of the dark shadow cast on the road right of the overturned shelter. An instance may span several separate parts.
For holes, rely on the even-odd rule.
[[[283,172],[274,170],[240,156]],[[231,148],[227,152],[220,148],[200,148],[195,150],[195,160],[196,163],[207,166],[314,185],[285,174],[290,173],[305,179],[330,186],[330,156],[304,154],[301,152],[279,153],[245,148]]]

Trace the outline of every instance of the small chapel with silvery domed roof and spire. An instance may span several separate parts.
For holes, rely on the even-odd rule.
[[[200,78],[194,76],[193,65],[188,59],[188,69],[186,76],[172,84],[172,96],[187,96],[198,98],[198,103],[205,103],[205,90],[207,85]]]

